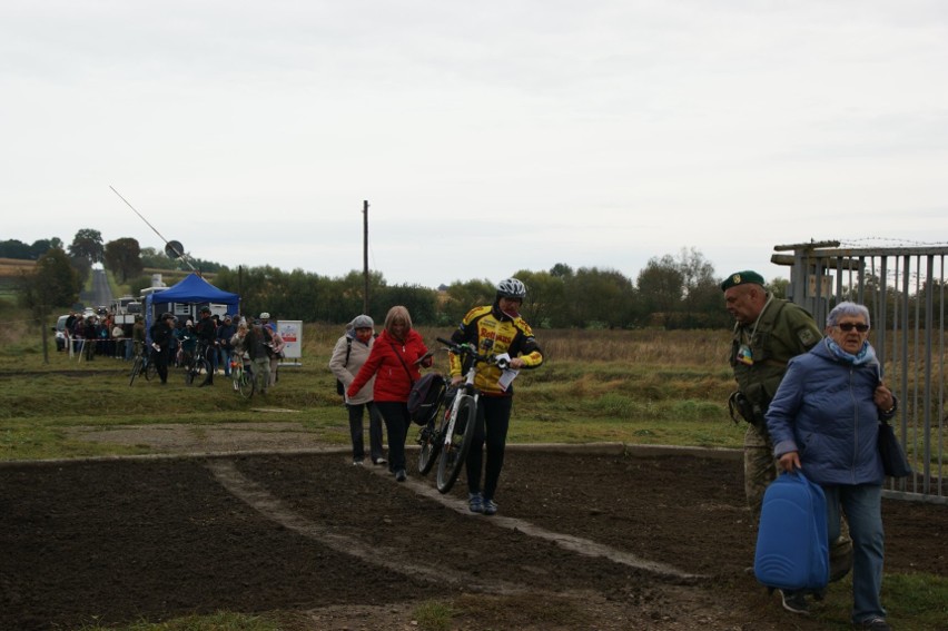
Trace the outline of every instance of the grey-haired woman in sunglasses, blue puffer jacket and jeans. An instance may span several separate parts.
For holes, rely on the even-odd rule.
[[[800,469],[827,497],[829,541],[839,536],[840,507],[852,536],[852,622],[886,630],[882,588],[882,462],[879,420],[896,413],[868,342],[869,309],[840,303],[827,316],[826,337],[790,361],[767,412],[767,428],[780,469]],[[790,595],[790,598],[788,598]],[[796,598],[793,598],[796,597]],[[787,607],[790,601],[799,607]],[[802,594],[784,607],[806,612]]]

